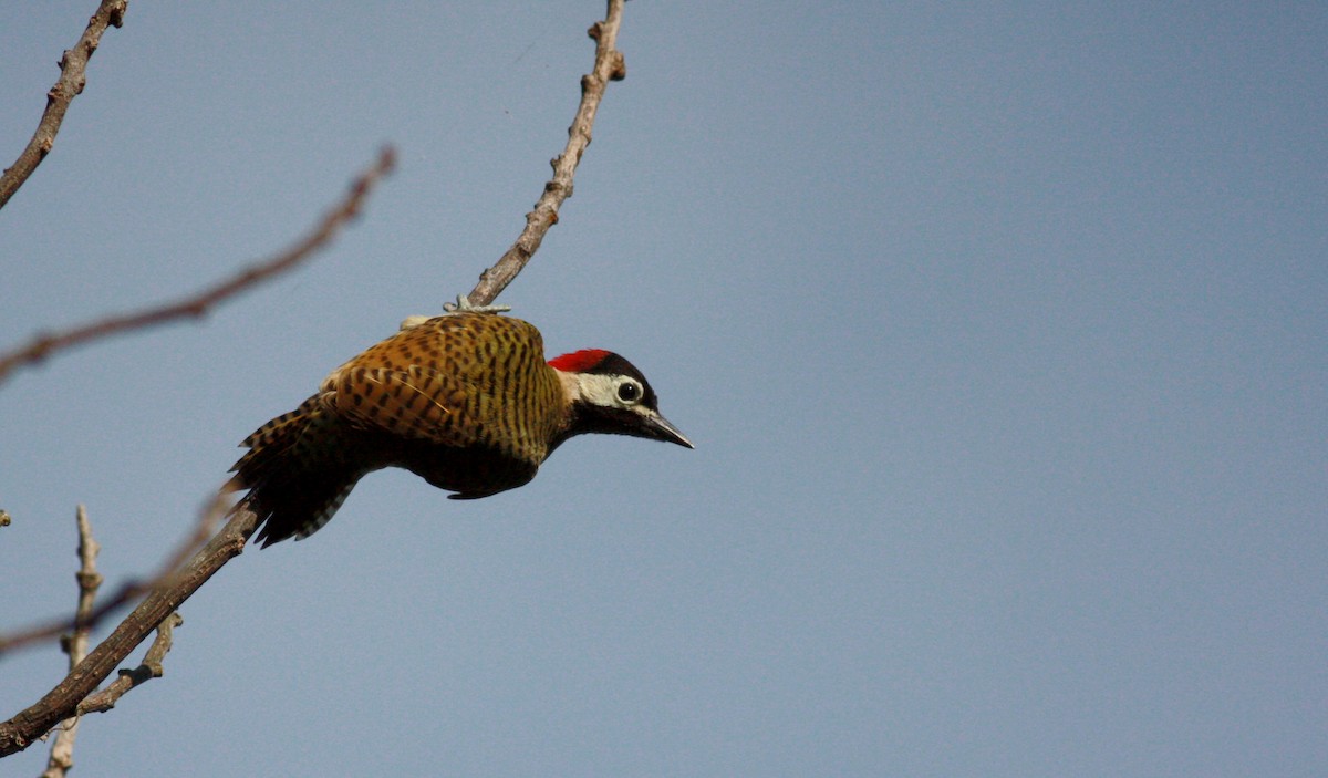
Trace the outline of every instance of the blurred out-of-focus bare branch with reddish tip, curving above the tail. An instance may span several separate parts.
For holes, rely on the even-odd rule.
[[[218,303],[293,268],[315,251],[327,246],[341,227],[360,212],[360,207],[373,186],[384,175],[392,173],[394,165],[396,153],[390,147],[382,149],[377,162],[356,178],[349,194],[323,216],[312,232],[276,256],[252,264],[211,288],[158,308],[109,316],[54,335],[39,335],[28,345],[0,354],[0,382],[19,365],[40,362],[56,350],[110,335],[163,324],[174,319],[201,317]]]

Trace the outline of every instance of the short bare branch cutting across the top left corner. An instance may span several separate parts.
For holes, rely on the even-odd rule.
[[[37,122],[37,131],[28,141],[28,147],[19,154],[19,159],[12,167],[0,175],[0,208],[9,202],[13,193],[19,191],[32,171],[41,165],[50,149],[56,143],[56,133],[60,131],[60,122],[65,119],[65,112],[73,98],[82,93],[88,84],[88,60],[101,45],[101,33],[108,27],[120,28],[125,24],[125,11],[129,8],[127,0],[102,0],[97,13],[88,20],[88,29],[78,37],[74,48],[66,50],[60,57],[60,78],[46,93],[46,110]]]

